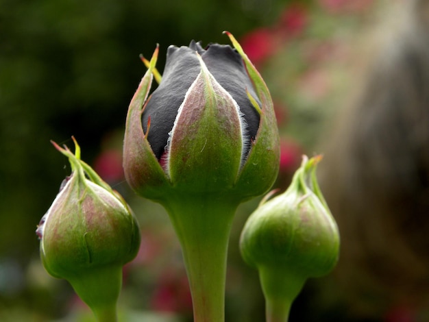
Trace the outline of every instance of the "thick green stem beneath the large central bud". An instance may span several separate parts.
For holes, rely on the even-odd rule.
[[[171,198],[164,206],[182,245],[194,321],[223,322],[228,240],[238,203],[201,195]]]

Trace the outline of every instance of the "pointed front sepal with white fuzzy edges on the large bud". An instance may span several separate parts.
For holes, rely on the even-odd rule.
[[[182,193],[229,191],[243,154],[239,110],[200,57],[199,61],[201,71],[171,131],[168,174],[173,188]]]

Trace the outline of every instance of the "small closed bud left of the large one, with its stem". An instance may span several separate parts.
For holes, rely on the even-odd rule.
[[[72,173],[36,230],[40,257],[48,273],[68,280],[97,314],[116,304],[121,269],[136,256],[140,230],[119,193],[80,160],[76,141],[75,155],[53,145],[69,158]]]

